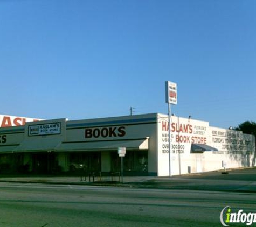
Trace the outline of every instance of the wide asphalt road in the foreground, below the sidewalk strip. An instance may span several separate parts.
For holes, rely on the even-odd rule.
[[[0,183],[1,227],[222,226],[219,216],[227,205],[256,212],[256,195]]]

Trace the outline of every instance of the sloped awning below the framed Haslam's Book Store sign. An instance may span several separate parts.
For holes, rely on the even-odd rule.
[[[14,150],[15,153],[19,152],[40,152],[40,151],[54,151],[55,148],[61,144],[61,139],[27,139],[24,140]]]

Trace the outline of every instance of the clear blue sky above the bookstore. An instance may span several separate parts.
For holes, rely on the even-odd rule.
[[[1,114],[256,121],[255,0],[0,0]]]

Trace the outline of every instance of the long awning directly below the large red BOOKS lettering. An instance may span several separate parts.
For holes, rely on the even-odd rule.
[[[148,150],[148,139],[63,142],[56,148],[56,151],[117,151],[118,147],[126,147],[127,150]]]

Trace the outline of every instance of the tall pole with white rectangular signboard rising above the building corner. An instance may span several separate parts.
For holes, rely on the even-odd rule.
[[[171,104],[177,105],[177,84],[171,81],[165,81],[165,102],[168,103],[169,118],[169,176],[171,176]]]

